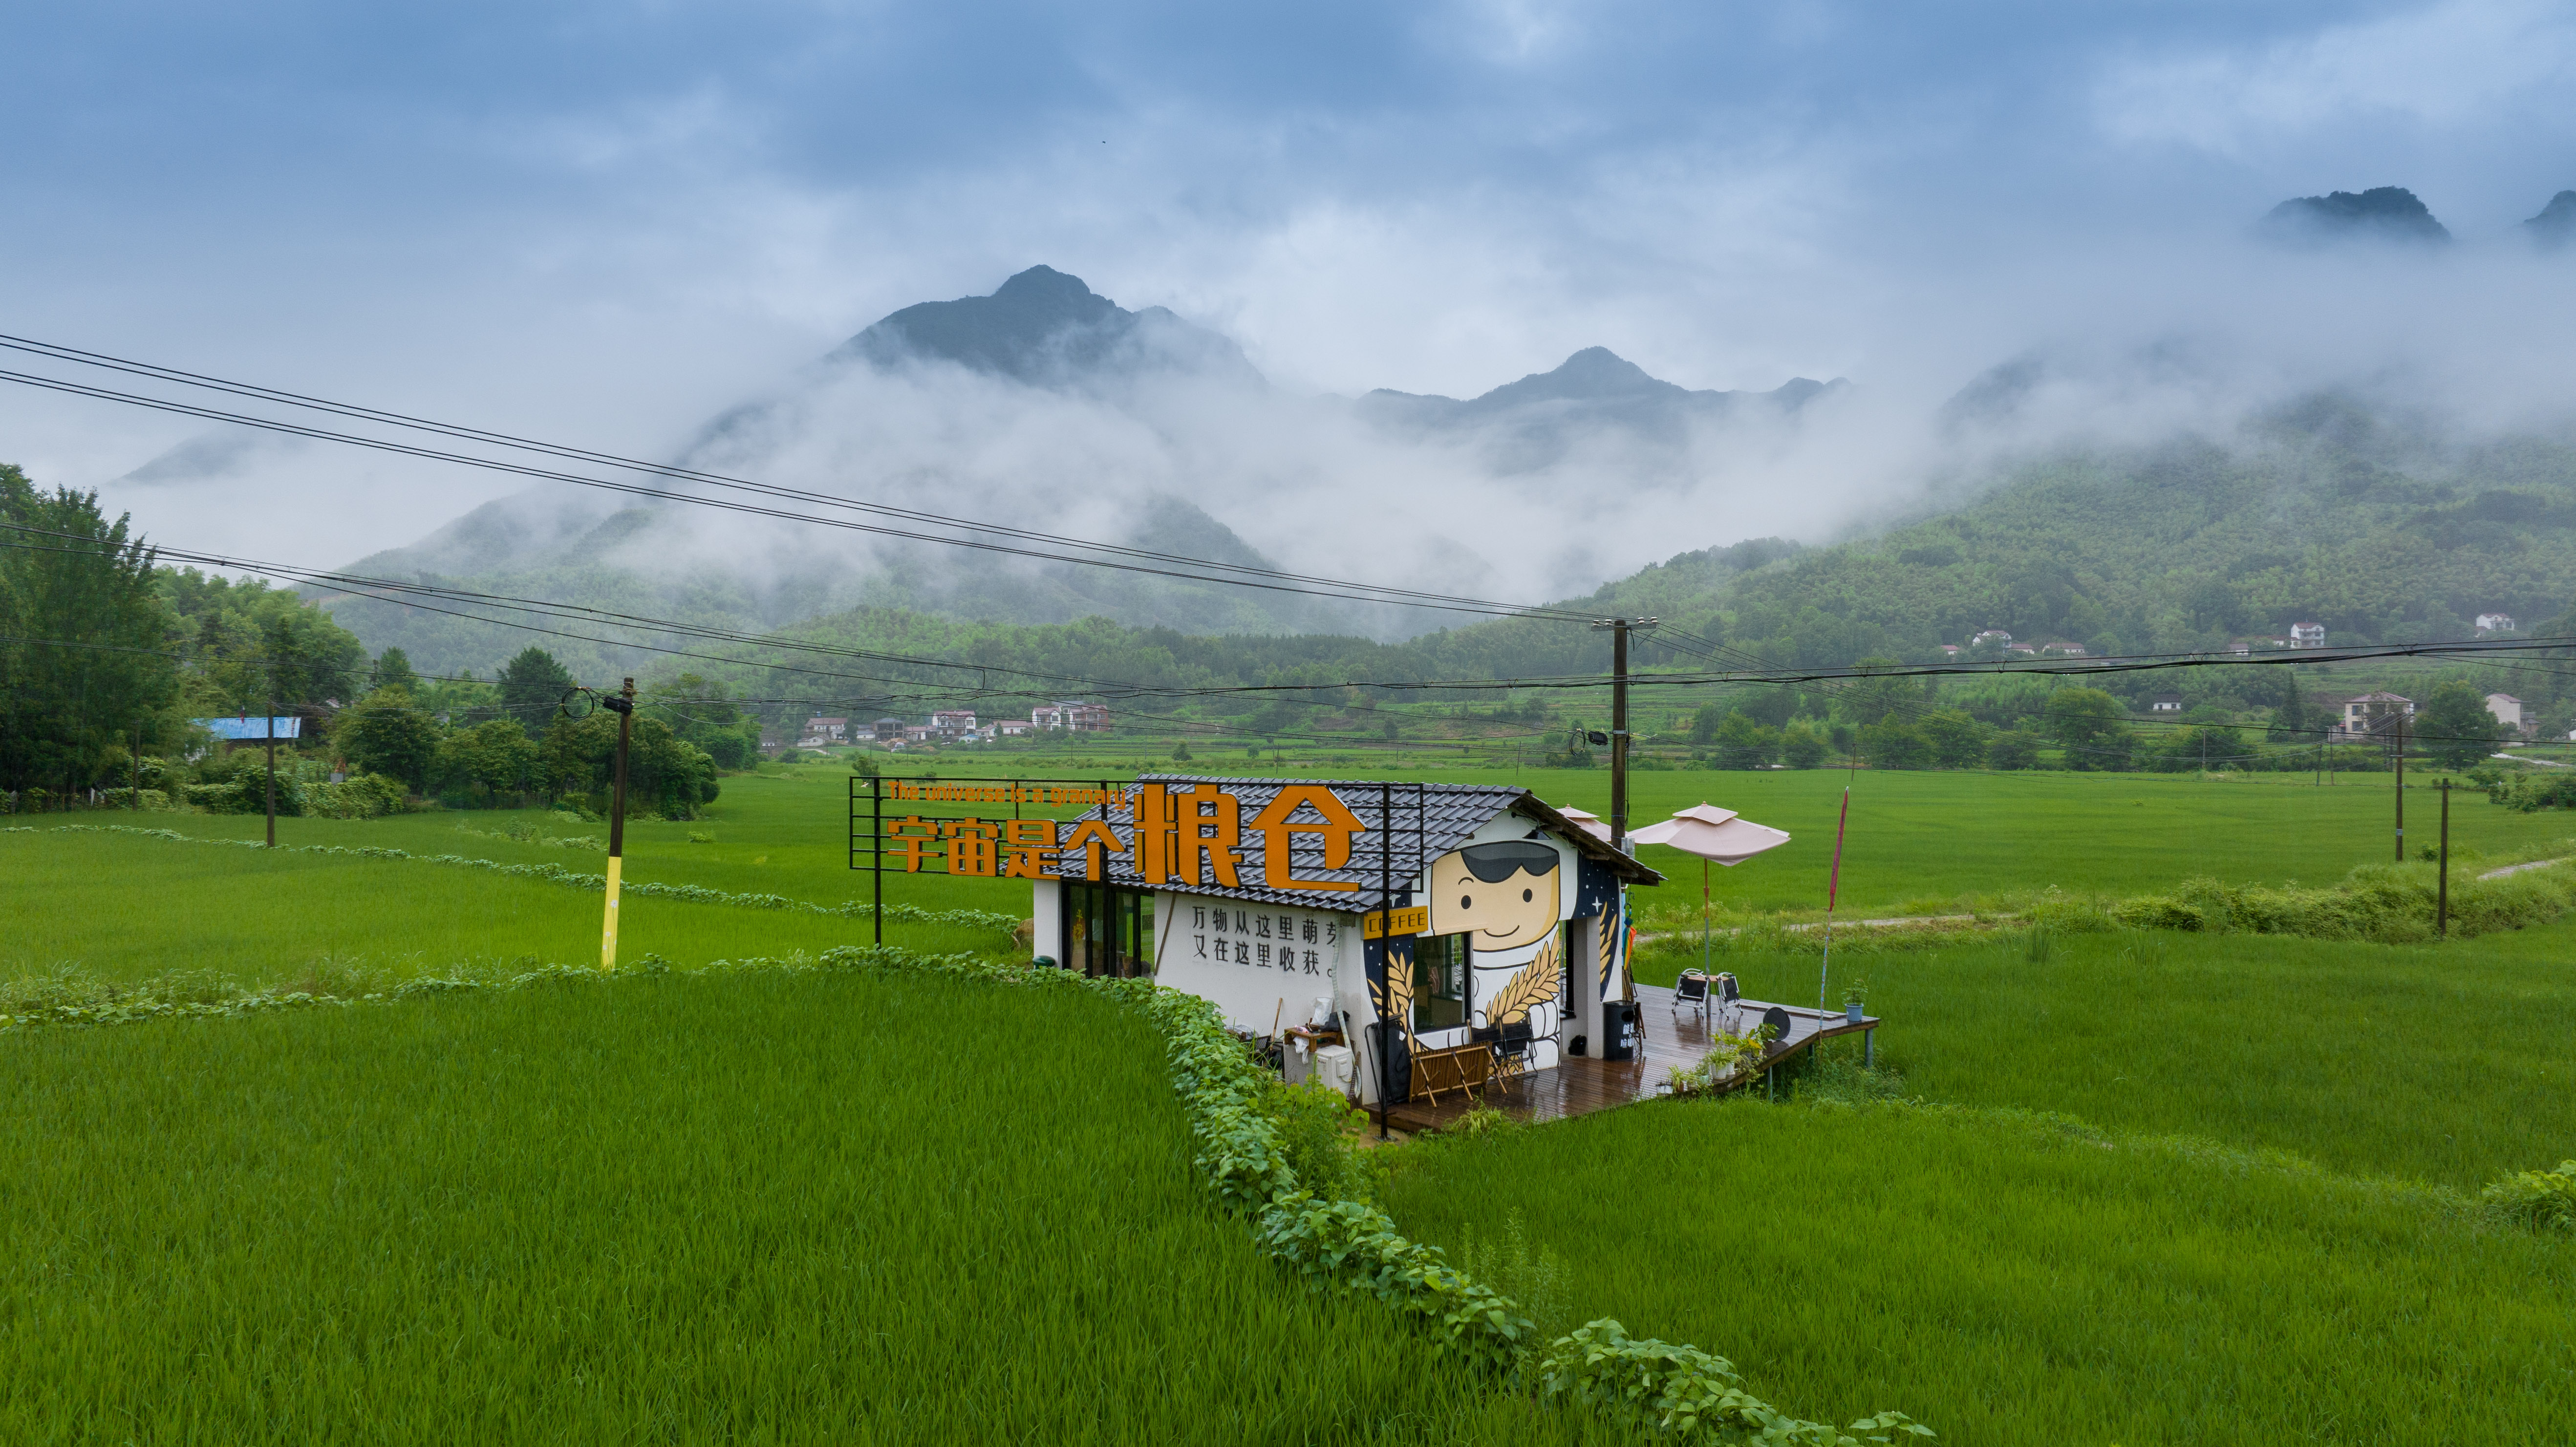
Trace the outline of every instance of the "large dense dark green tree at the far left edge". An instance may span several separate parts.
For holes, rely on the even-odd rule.
[[[88,788],[137,726],[167,734],[180,677],[152,548],[95,492],[39,492],[0,463],[0,788]]]

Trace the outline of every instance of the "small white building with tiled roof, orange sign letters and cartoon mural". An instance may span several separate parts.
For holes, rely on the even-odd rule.
[[[1033,886],[1030,955],[1208,999],[1283,1038],[1291,1079],[1376,1105],[1417,1069],[1636,1048],[1628,886],[1662,875],[1525,788],[1146,775],[1095,798],[994,839],[992,873]]]

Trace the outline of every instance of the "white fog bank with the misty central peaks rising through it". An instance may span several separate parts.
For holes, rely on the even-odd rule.
[[[1808,430],[1829,433],[1844,391],[1811,378],[1762,394],[1692,391],[1587,348],[1466,402],[1301,397],[1270,386],[1229,337],[1159,306],[1123,309],[1038,265],[989,296],[884,317],[765,397],[714,415],[670,461],[1175,559],[1540,602],[1651,561],[1674,515],[1728,518],[1716,523],[1728,530],[1826,523],[1798,502],[1744,497],[1741,479]],[[129,481],[170,487],[252,461],[286,466],[309,451],[193,438]],[[724,497],[693,481],[652,484]],[[1224,587],[1190,577],[1188,564],[1146,566],[1162,572],[961,551],[549,481],[348,572],[739,628],[853,605],[1381,639],[1458,621]],[[332,608],[371,646],[399,644],[422,667],[489,664],[507,639],[368,597],[335,595]]]

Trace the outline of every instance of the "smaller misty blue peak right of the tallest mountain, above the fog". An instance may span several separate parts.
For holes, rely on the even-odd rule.
[[[1564,461],[1584,438],[1613,435],[1680,453],[1700,427],[1777,422],[1847,381],[1803,376],[1772,391],[1690,391],[1610,348],[1584,348],[1556,371],[1507,381],[1466,402],[1378,389],[1358,399],[1363,420],[1406,440],[1479,438],[1497,471],[1522,474]]]

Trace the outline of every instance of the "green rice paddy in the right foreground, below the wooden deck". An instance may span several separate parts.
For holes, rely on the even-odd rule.
[[[1656,1102],[1414,1151],[1409,1233],[1512,1213],[1569,1318],[1947,1442],[2563,1442],[2576,1254],[2445,1197],[1994,1115]]]

